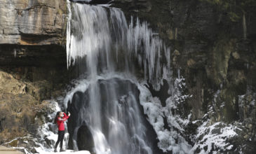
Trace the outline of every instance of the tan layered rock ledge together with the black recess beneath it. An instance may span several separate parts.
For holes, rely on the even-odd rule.
[[[65,65],[66,17],[66,0],[1,0],[0,65]]]

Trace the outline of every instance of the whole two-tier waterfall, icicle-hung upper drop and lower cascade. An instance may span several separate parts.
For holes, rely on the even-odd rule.
[[[65,99],[72,112],[69,148],[114,154],[157,151],[156,135],[140,106],[140,91],[127,78],[114,77],[119,67],[132,71],[134,58],[156,89],[170,76],[170,48],[147,22],[131,17],[128,25],[116,8],[69,5],[67,67],[86,61],[81,72],[86,78]]]

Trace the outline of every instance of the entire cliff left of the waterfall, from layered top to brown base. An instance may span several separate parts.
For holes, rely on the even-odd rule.
[[[0,0],[0,144],[34,151],[66,76],[66,0]],[[29,144],[30,146],[28,146]]]

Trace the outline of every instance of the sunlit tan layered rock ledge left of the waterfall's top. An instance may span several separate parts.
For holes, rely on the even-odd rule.
[[[66,1],[0,1],[0,44],[62,44]]]

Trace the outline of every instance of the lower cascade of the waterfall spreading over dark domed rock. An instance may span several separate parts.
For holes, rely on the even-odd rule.
[[[77,87],[67,94],[65,101],[72,102],[68,107],[72,113],[68,123],[69,146],[92,153],[156,151],[150,136],[154,136],[153,130],[147,129],[149,124],[139,106],[137,86],[120,77],[100,76],[96,80],[83,80],[86,84],[79,86],[86,87],[85,90]],[[81,129],[83,132],[79,132]]]

